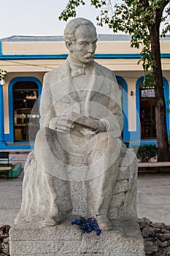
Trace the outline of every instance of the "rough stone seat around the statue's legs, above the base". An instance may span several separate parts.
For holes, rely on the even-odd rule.
[[[33,158],[31,159],[31,154]],[[27,222],[34,222],[37,227],[42,225],[49,208],[50,208],[50,192],[47,181],[43,178],[46,173],[36,167],[36,159],[34,153],[31,152],[26,162],[26,171],[23,181],[23,202],[20,213],[15,224],[25,225]],[[129,165],[129,158],[131,164]],[[111,203],[109,205],[109,219],[136,219],[136,182],[137,182],[137,160],[134,151],[125,147],[122,143],[121,157],[117,181],[112,190]],[[35,171],[36,170],[36,171]],[[60,186],[67,186],[68,181],[61,181]],[[70,191],[72,199],[72,214],[87,217],[86,202],[86,186],[85,182],[70,182]],[[45,184],[43,186],[43,183]],[[59,184],[59,183],[57,183]],[[96,183],[97,187],[97,183]],[[37,189],[38,188],[38,189]],[[66,209],[71,207],[66,201],[67,190],[65,195],[58,187],[58,195],[60,196],[60,207]]]

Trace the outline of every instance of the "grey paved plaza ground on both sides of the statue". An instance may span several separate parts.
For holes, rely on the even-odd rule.
[[[26,161],[26,154],[10,155],[12,162]],[[20,209],[23,172],[19,178],[0,179],[0,226],[12,225]],[[145,174],[138,178],[139,218],[170,225],[170,174]]]

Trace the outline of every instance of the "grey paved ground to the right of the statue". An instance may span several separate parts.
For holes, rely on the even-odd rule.
[[[170,225],[170,173],[139,176],[137,211],[139,218]]]

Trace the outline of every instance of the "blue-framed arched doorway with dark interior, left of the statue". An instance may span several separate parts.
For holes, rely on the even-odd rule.
[[[9,84],[9,130],[12,142],[34,141],[39,129],[39,95],[42,84],[37,78],[14,78]],[[34,111],[32,110],[34,107]],[[31,135],[28,130],[31,121]]]

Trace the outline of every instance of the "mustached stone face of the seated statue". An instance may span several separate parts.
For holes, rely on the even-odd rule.
[[[72,42],[70,56],[77,64],[89,64],[93,61],[96,50],[96,29],[90,25],[82,25],[75,31],[76,41]]]

